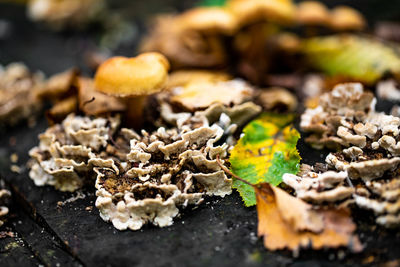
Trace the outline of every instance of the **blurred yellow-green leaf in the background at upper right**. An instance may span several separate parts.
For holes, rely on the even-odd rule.
[[[400,74],[398,47],[356,35],[334,35],[306,39],[301,51],[315,69],[368,84],[386,72]]]

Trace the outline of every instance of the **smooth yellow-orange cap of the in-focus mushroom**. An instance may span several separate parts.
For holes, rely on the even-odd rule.
[[[113,57],[97,69],[95,87],[97,91],[114,96],[150,95],[163,89],[168,70],[168,60],[159,53]]]

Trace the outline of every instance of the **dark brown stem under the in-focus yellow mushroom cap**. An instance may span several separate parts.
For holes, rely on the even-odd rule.
[[[128,127],[140,130],[143,125],[143,109],[147,96],[126,97],[125,124]]]

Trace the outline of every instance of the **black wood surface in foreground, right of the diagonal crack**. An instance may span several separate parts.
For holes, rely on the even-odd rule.
[[[45,121],[28,131],[13,132],[16,146],[8,154],[17,153],[18,163],[24,166],[28,160],[27,151],[37,141],[31,138],[45,129]],[[320,161],[324,154],[311,150],[303,142],[300,151],[307,155],[309,163]],[[7,157],[0,157],[0,168],[7,169]],[[5,164],[5,165],[4,165]],[[358,232],[365,251],[359,255],[348,254],[346,250],[333,250],[315,253],[306,251],[300,258],[293,259],[289,252],[268,252],[257,239],[257,216],[254,208],[242,205],[238,194],[224,199],[213,198],[195,210],[185,211],[175,224],[167,228],[144,227],[140,231],[115,230],[111,224],[101,220],[94,205],[93,188],[83,190],[84,199],[78,199],[59,207],[59,201],[73,197],[74,193],[57,192],[51,187],[36,187],[28,177],[28,170],[22,168],[20,174],[9,170],[3,177],[13,184],[20,202],[28,204],[33,215],[43,218],[51,229],[54,238],[67,247],[66,254],[73,255],[78,263],[95,266],[103,263],[116,265],[138,264],[156,266],[262,266],[264,264],[292,263],[308,265],[348,263],[359,265],[363,261],[385,263],[398,259],[400,234],[373,225],[372,214],[359,211]],[[88,208],[89,207],[89,208]],[[19,229],[29,231],[26,229]],[[48,239],[44,237],[43,239]],[[32,247],[37,246],[35,239],[27,239]],[[37,249],[38,256],[46,258],[46,249]],[[342,259],[341,257],[345,257]],[[372,258],[371,258],[372,257]],[[195,260],[194,260],[195,259]],[[47,262],[51,262],[47,259]]]

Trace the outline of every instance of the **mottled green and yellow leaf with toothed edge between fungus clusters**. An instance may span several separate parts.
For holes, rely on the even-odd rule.
[[[296,149],[299,132],[290,125],[294,115],[264,113],[243,130],[244,136],[231,151],[231,171],[251,184],[278,185],[284,173],[297,173],[300,155]],[[233,181],[246,206],[256,204],[252,186]]]

